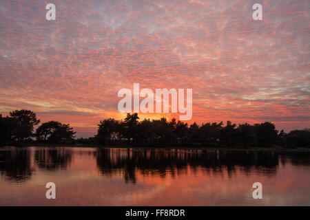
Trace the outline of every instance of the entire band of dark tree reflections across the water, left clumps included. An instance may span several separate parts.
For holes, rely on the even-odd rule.
[[[84,149],[84,150],[83,150]],[[208,173],[227,172],[233,177],[236,170],[245,175],[251,173],[276,175],[279,163],[294,166],[310,166],[309,153],[273,151],[205,151],[127,148],[1,148],[0,173],[13,181],[28,180],[34,170],[66,170],[72,157],[84,156],[96,160],[101,175],[113,177],[121,173],[126,183],[136,183],[136,175],[159,175],[167,173],[175,177],[203,168]],[[34,164],[32,164],[34,162]],[[36,166],[34,166],[36,165]]]

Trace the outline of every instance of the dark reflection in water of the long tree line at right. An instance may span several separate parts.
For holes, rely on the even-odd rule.
[[[281,157],[282,155],[282,157]],[[252,172],[263,175],[276,175],[279,158],[283,165],[293,157],[293,164],[309,165],[309,157],[293,157],[298,153],[275,153],[273,151],[202,151],[202,150],[154,150],[154,149],[114,149],[101,148],[97,151],[96,162],[103,175],[112,175],[123,170],[126,182],[136,182],[136,172],[142,175],[158,174],[172,177],[187,166],[196,170],[198,167],[207,173],[222,173],[227,170],[228,177],[236,173],[236,168],[245,175]],[[308,153],[309,155],[309,153]]]

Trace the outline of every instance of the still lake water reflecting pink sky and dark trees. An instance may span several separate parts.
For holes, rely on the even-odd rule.
[[[310,206],[310,153],[0,148],[0,206],[12,205]]]

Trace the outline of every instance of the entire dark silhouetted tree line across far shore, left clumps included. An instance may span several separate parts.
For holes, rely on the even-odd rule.
[[[41,124],[30,110],[15,110],[9,116],[0,114],[0,145],[23,142],[61,144],[96,144],[99,146],[190,146],[190,147],[271,147],[310,148],[310,129],[277,131],[275,124],[235,124],[227,121],[187,124],[173,118],[139,120],[138,113],[127,113],[124,120],[101,120],[94,137],[74,139],[70,124],[50,121]]]

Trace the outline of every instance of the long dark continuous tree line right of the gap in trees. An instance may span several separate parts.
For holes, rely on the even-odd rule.
[[[196,146],[196,147],[271,147],[310,148],[310,129],[289,133],[277,131],[275,124],[234,124],[227,121],[187,124],[173,118],[167,121],[145,119],[127,113],[124,120],[101,120],[96,141],[100,145]]]

